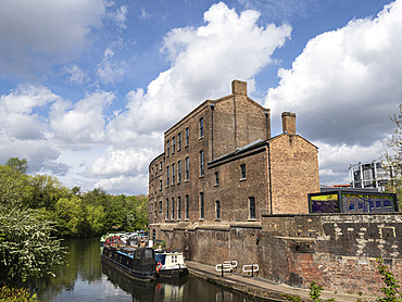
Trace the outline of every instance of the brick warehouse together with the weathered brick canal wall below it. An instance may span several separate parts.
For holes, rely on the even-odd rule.
[[[166,130],[149,166],[151,237],[189,260],[259,264],[260,276],[296,287],[378,294],[378,255],[401,280],[401,216],[307,214],[317,148],[297,135],[294,113],[281,118],[282,134],[271,137],[269,110],[234,80],[231,95]]]

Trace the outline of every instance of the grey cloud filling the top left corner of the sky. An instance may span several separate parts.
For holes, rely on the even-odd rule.
[[[74,58],[104,15],[102,0],[0,1],[0,76],[42,75]]]

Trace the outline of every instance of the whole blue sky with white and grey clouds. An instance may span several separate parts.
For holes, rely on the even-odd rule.
[[[2,0],[0,164],[147,193],[163,133],[205,99],[297,114],[323,185],[379,160],[402,99],[402,0]]]

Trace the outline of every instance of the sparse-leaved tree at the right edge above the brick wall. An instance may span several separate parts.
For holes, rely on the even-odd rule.
[[[387,191],[397,193],[398,200],[402,200],[402,103],[399,105],[399,113],[390,116],[397,125],[390,137],[385,141],[389,148],[382,154],[386,160],[386,168],[391,180],[387,185]],[[401,204],[400,204],[401,205]],[[401,206],[400,206],[401,207]]]

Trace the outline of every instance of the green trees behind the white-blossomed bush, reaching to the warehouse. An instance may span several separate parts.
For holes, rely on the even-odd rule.
[[[0,165],[0,204],[35,210],[54,222],[58,238],[85,238],[106,231],[145,229],[148,225],[146,196],[113,196],[102,189],[81,192],[68,189],[58,178],[26,174],[26,160],[10,159]]]

